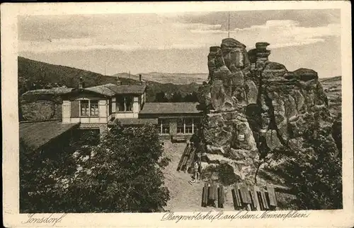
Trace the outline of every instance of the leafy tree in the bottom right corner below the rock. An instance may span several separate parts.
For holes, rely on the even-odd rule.
[[[278,151],[272,159],[282,160],[282,164],[266,170],[291,188],[299,210],[343,208],[341,158],[336,155],[336,144],[323,135],[307,143],[311,147]]]

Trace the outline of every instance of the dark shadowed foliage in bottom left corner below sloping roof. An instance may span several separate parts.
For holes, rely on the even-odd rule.
[[[20,140],[20,212],[62,212],[63,188],[76,171],[71,146],[33,152]]]

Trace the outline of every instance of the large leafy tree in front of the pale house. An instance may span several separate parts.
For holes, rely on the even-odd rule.
[[[65,185],[52,185],[46,212],[160,212],[169,200],[164,187],[159,136],[152,125],[116,125],[96,146],[76,150],[81,167]]]

